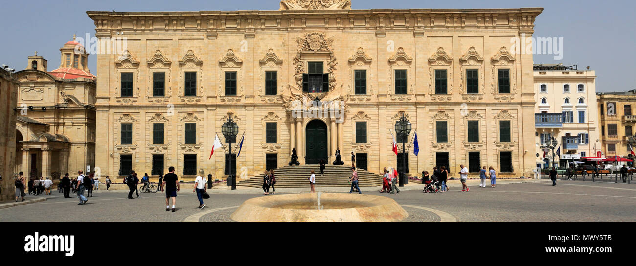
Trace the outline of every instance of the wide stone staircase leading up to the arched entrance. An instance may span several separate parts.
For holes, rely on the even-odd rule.
[[[320,174],[318,164],[285,166],[274,170],[276,175],[276,189],[278,188],[308,188],[311,170],[316,175],[315,187],[350,187],[349,177],[352,174],[350,166],[326,165],[324,175]],[[358,185],[360,187],[377,187],[382,185],[382,175],[358,169]],[[263,187],[263,176],[259,173],[252,178],[241,180],[237,185],[242,187]]]

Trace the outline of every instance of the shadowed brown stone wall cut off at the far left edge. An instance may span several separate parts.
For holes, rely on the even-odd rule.
[[[0,201],[13,199],[15,196],[15,121],[13,111],[18,94],[18,79],[15,74],[0,68]]]

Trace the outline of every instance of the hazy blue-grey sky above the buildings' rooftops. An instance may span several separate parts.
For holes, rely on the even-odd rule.
[[[278,0],[109,0],[8,1],[0,0],[0,63],[13,69],[27,67],[27,57],[38,51],[48,70],[60,65],[60,47],[73,34],[95,34],[86,11],[199,11],[278,10]],[[636,1],[628,0],[352,0],[354,9],[375,8],[523,8],[541,7],[535,37],[563,37],[563,58],[535,55],[534,63],[563,63],[595,70],[597,91],[636,89]],[[89,67],[95,71],[95,55]]]

